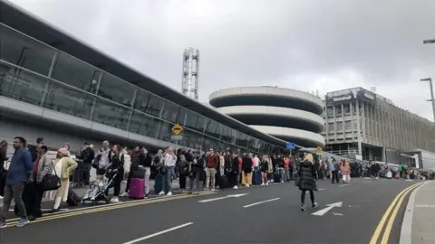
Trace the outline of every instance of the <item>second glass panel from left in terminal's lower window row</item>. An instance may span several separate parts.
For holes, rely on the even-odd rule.
[[[89,119],[93,99],[92,95],[53,81],[43,107]]]

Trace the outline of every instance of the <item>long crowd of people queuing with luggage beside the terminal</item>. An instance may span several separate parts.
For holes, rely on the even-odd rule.
[[[51,157],[42,137],[37,138],[35,145],[27,147],[26,140],[21,136],[14,138],[14,155],[6,171],[7,146],[6,141],[0,142],[0,195],[4,198],[0,227],[6,226],[5,216],[12,200],[15,213],[21,217],[18,227],[42,217],[44,195],[53,200],[53,211],[59,211],[62,202],[68,201],[70,175],[78,166],[82,169],[80,178],[84,185],[91,184],[92,168],[96,171],[95,181],[103,177],[111,178],[114,190],[111,202],[120,202],[120,197],[129,196],[131,181],[138,177],[144,180],[144,197],[148,197],[150,176],[154,173],[154,192],[160,195],[172,195],[172,182],[176,179],[179,180],[180,191],[191,194],[216,191],[217,188],[237,189],[252,184],[267,186],[269,183],[295,181],[295,186],[301,190],[301,211],[305,211],[305,192],[310,193],[313,208],[317,206],[314,192],[317,191],[318,180],[329,178],[331,183],[350,183],[351,175],[360,177],[368,174],[377,179],[382,171],[380,164],[363,166],[349,160],[321,158],[297,151],[292,155],[254,155],[219,152],[213,148],[200,152],[168,147],[151,155],[142,145],[127,150],[121,145],[111,146],[108,141],[103,141],[98,151],[95,151],[94,145],[85,143],[76,156],[71,154],[70,145],[65,143],[55,157]],[[406,165],[400,164],[398,174],[407,177],[412,173]],[[121,193],[124,178],[127,178],[126,187]]]

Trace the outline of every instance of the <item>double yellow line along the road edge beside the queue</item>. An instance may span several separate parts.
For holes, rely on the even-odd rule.
[[[157,203],[157,202],[169,202],[172,200],[179,200],[179,199],[185,199],[185,198],[192,198],[197,197],[201,195],[208,195],[213,194],[214,192],[200,192],[198,195],[194,194],[181,194],[171,197],[163,197],[158,199],[152,199],[152,200],[140,200],[140,201],[133,201],[133,202],[122,202],[119,204],[111,204],[107,206],[95,206],[90,208],[83,208],[83,209],[77,209],[73,211],[67,211],[67,212],[58,212],[51,215],[43,216],[42,218],[36,219],[35,221],[32,221],[31,223],[37,223],[37,222],[43,222],[43,221],[53,221],[73,216],[79,216],[82,214],[92,213],[92,212],[99,212],[99,211],[111,211],[111,210],[117,210],[117,209],[124,209],[128,207],[134,207],[134,206],[140,206],[140,205],[146,205],[151,203]],[[14,219],[11,221],[7,221],[7,227],[12,227],[15,224],[18,223],[18,219]]]

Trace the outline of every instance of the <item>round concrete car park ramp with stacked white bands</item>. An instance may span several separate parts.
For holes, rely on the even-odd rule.
[[[304,147],[324,146],[322,99],[277,87],[220,89],[209,97],[219,112],[256,130]]]

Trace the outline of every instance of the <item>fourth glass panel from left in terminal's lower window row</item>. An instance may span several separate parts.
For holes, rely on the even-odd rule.
[[[131,115],[130,131],[142,136],[156,138],[160,120],[155,117],[133,111]]]

